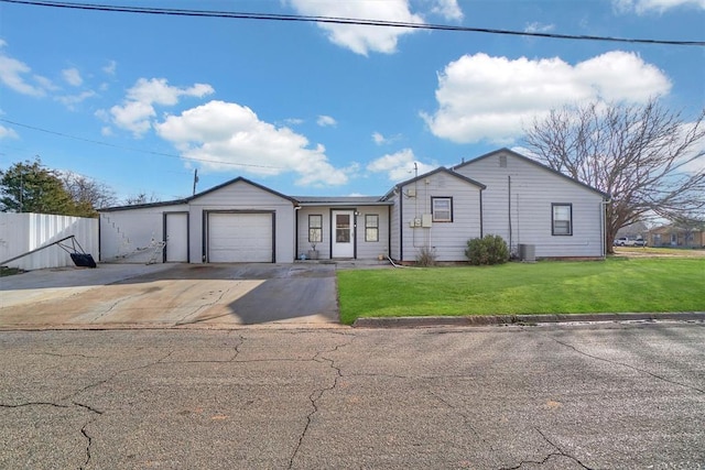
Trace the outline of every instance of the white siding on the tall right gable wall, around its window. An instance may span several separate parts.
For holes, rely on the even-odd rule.
[[[510,152],[469,161],[456,172],[487,186],[482,232],[502,237],[514,254],[527,243],[535,245],[539,258],[603,255],[599,193]],[[572,204],[572,237],[553,236],[554,203]]]

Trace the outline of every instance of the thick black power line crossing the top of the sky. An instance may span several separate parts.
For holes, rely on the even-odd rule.
[[[430,23],[406,23],[400,21],[382,21],[382,20],[360,20],[351,18],[336,17],[307,17],[299,14],[274,14],[274,13],[247,13],[236,11],[212,11],[212,10],[183,10],[166,8],[148,8],[148,7],[120,7],[95,3],[75,3],[63,1],[42,1],[42,0],[0,0],[4,3],[20,3],[35,7],[65,8],[74,10],[93,10],[120,13],[140,13],[140,14],[162,14],[172,17],[200,17],[200,18],[224,18],[232,20],[262,20],[262,21],[289,21],[289,22],[308,22],[308,23],[327,23],[327,24],[354,24],[362,26],[384,26],[384,28],[403,28],[413,30],[432,30],[432,31],[457,31],[468,33],[485,34],[503,34],[513,36],[531,36],[546,37],[555,40],[575,40],[575,41],[607,41],[618,43],[632,44],[660,44],[675,46],[705,46],[705,41],[670,41],[670,40],[646,40],[629,39],[614,36],[593,36],[578,34],[555,34],[540,33],[528,31],[498,30],[490,28],[469,28],[454,26],[448,24],[430,24]]]

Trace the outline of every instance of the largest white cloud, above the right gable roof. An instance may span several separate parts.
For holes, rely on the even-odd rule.
[[[558,57],[529,59],[465,55],[438,75],[431,131],[458,143],[507,145],[551,108],[593,100],[644,102],[665,95],[669,78],[636,54],[608,52],[576,65]]]

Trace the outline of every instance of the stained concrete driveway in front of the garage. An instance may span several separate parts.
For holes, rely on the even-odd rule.
[[[0,328],[338,323],[335,265],[101,264],[0,280]]]

